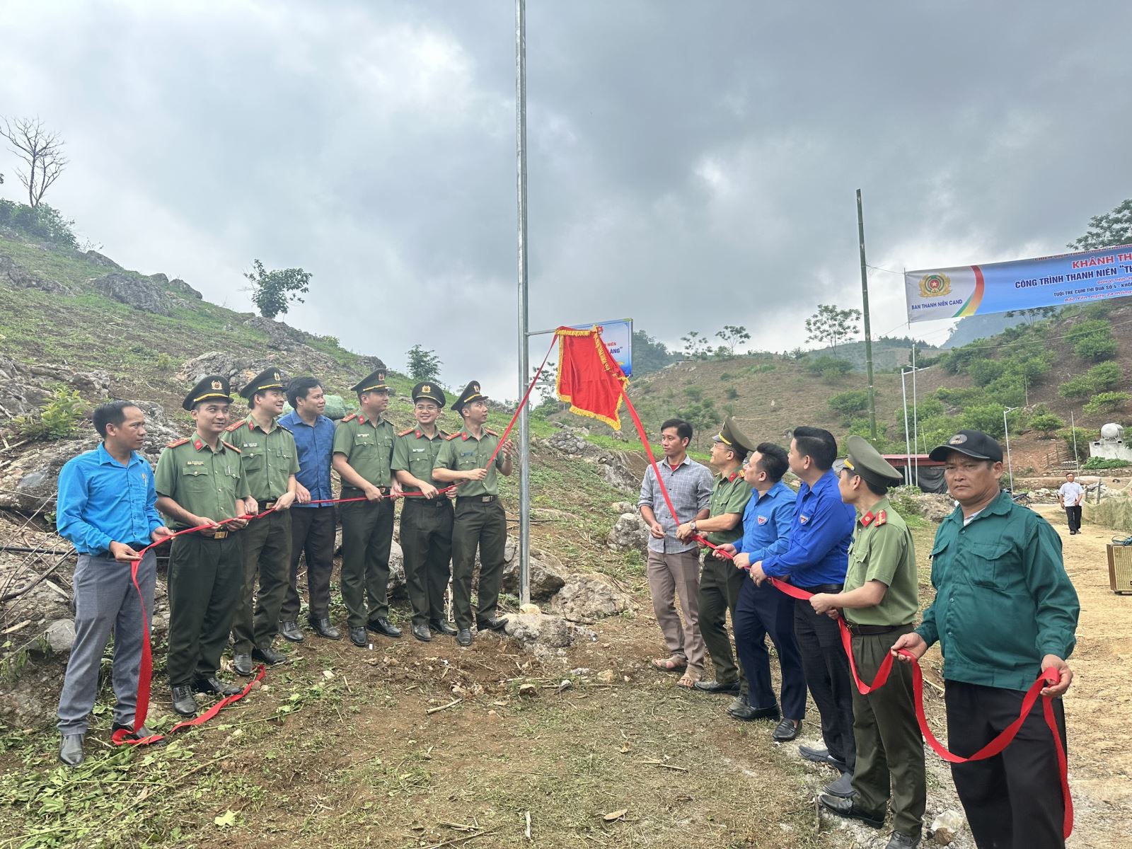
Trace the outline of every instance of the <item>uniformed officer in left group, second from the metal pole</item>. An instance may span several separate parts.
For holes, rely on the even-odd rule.
[[[445,405],[444,392],[432,383],[413,387],[417,427],[397,434],[393,445],[393,471],[409,492],[401,508],[401,549],[405,554],[405,586],[413,606],[412,634],[422,642],[431,631],[455,634],[444,617],[444,593],[452,563],[452,500],[437,495],[432,468],[448,436],[436,426]],[[431,628],[431,631],[430,631]]]

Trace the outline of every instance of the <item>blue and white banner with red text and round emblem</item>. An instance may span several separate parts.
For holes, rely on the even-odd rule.
[[[909,321],[1132,295],[1132,245],[904,273]]]

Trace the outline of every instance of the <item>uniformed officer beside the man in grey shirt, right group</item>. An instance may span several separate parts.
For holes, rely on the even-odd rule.
[[[740,466],[747,456],[744,446],[749,444],[751,439],[739,430],[735,419],[727,417],[719,434],[712,437],[711,464],[719,473],[712,488],[707,518],[685,522],[676,529],[677,539],[702,534],[717,546],[743,539],[743,512],[751,500],[751,487],[743,479]],[[735,694],[736,705],[741,707],[747,703],[747,679],[731,652],[727,611],[731,611],[734,623],[735,603],[747,573],[736,568],[731,560],[714,557],[711,549],[706,551],[700,574],[700,633],[715,667],[715,678],[696,681],[692,686],[705,693]]]

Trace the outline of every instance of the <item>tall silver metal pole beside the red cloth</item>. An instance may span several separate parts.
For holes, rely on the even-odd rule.
[[[531,379],[526,278],[526,0],[515,0],[515,156],[518,200],[518,397]],[[518,601],[531,602],[531,432],[526,405],[518,413]]]

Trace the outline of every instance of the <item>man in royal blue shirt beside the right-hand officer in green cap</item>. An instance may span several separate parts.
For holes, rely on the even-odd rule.
[[[751,564],[751,576],[760,584],[777,577],[811,593],[841,592],[849,569],[849,543],[857,513],[841,500],[838,477],[833,473],[837,456],[838,443],[830,431],[795,428],[788,461],[790,471],[801,479],[801,487],[795,500],[790,543],[781,554]],[[841,778],[826,786],[825,792],[849,797],[857,762],[852,737],[854,684],[838,623],[815,612],[808,601],[797,600],[794,633],[825,740],[825,748],[803,746],[800,753],[811,761],[838,767]]]

